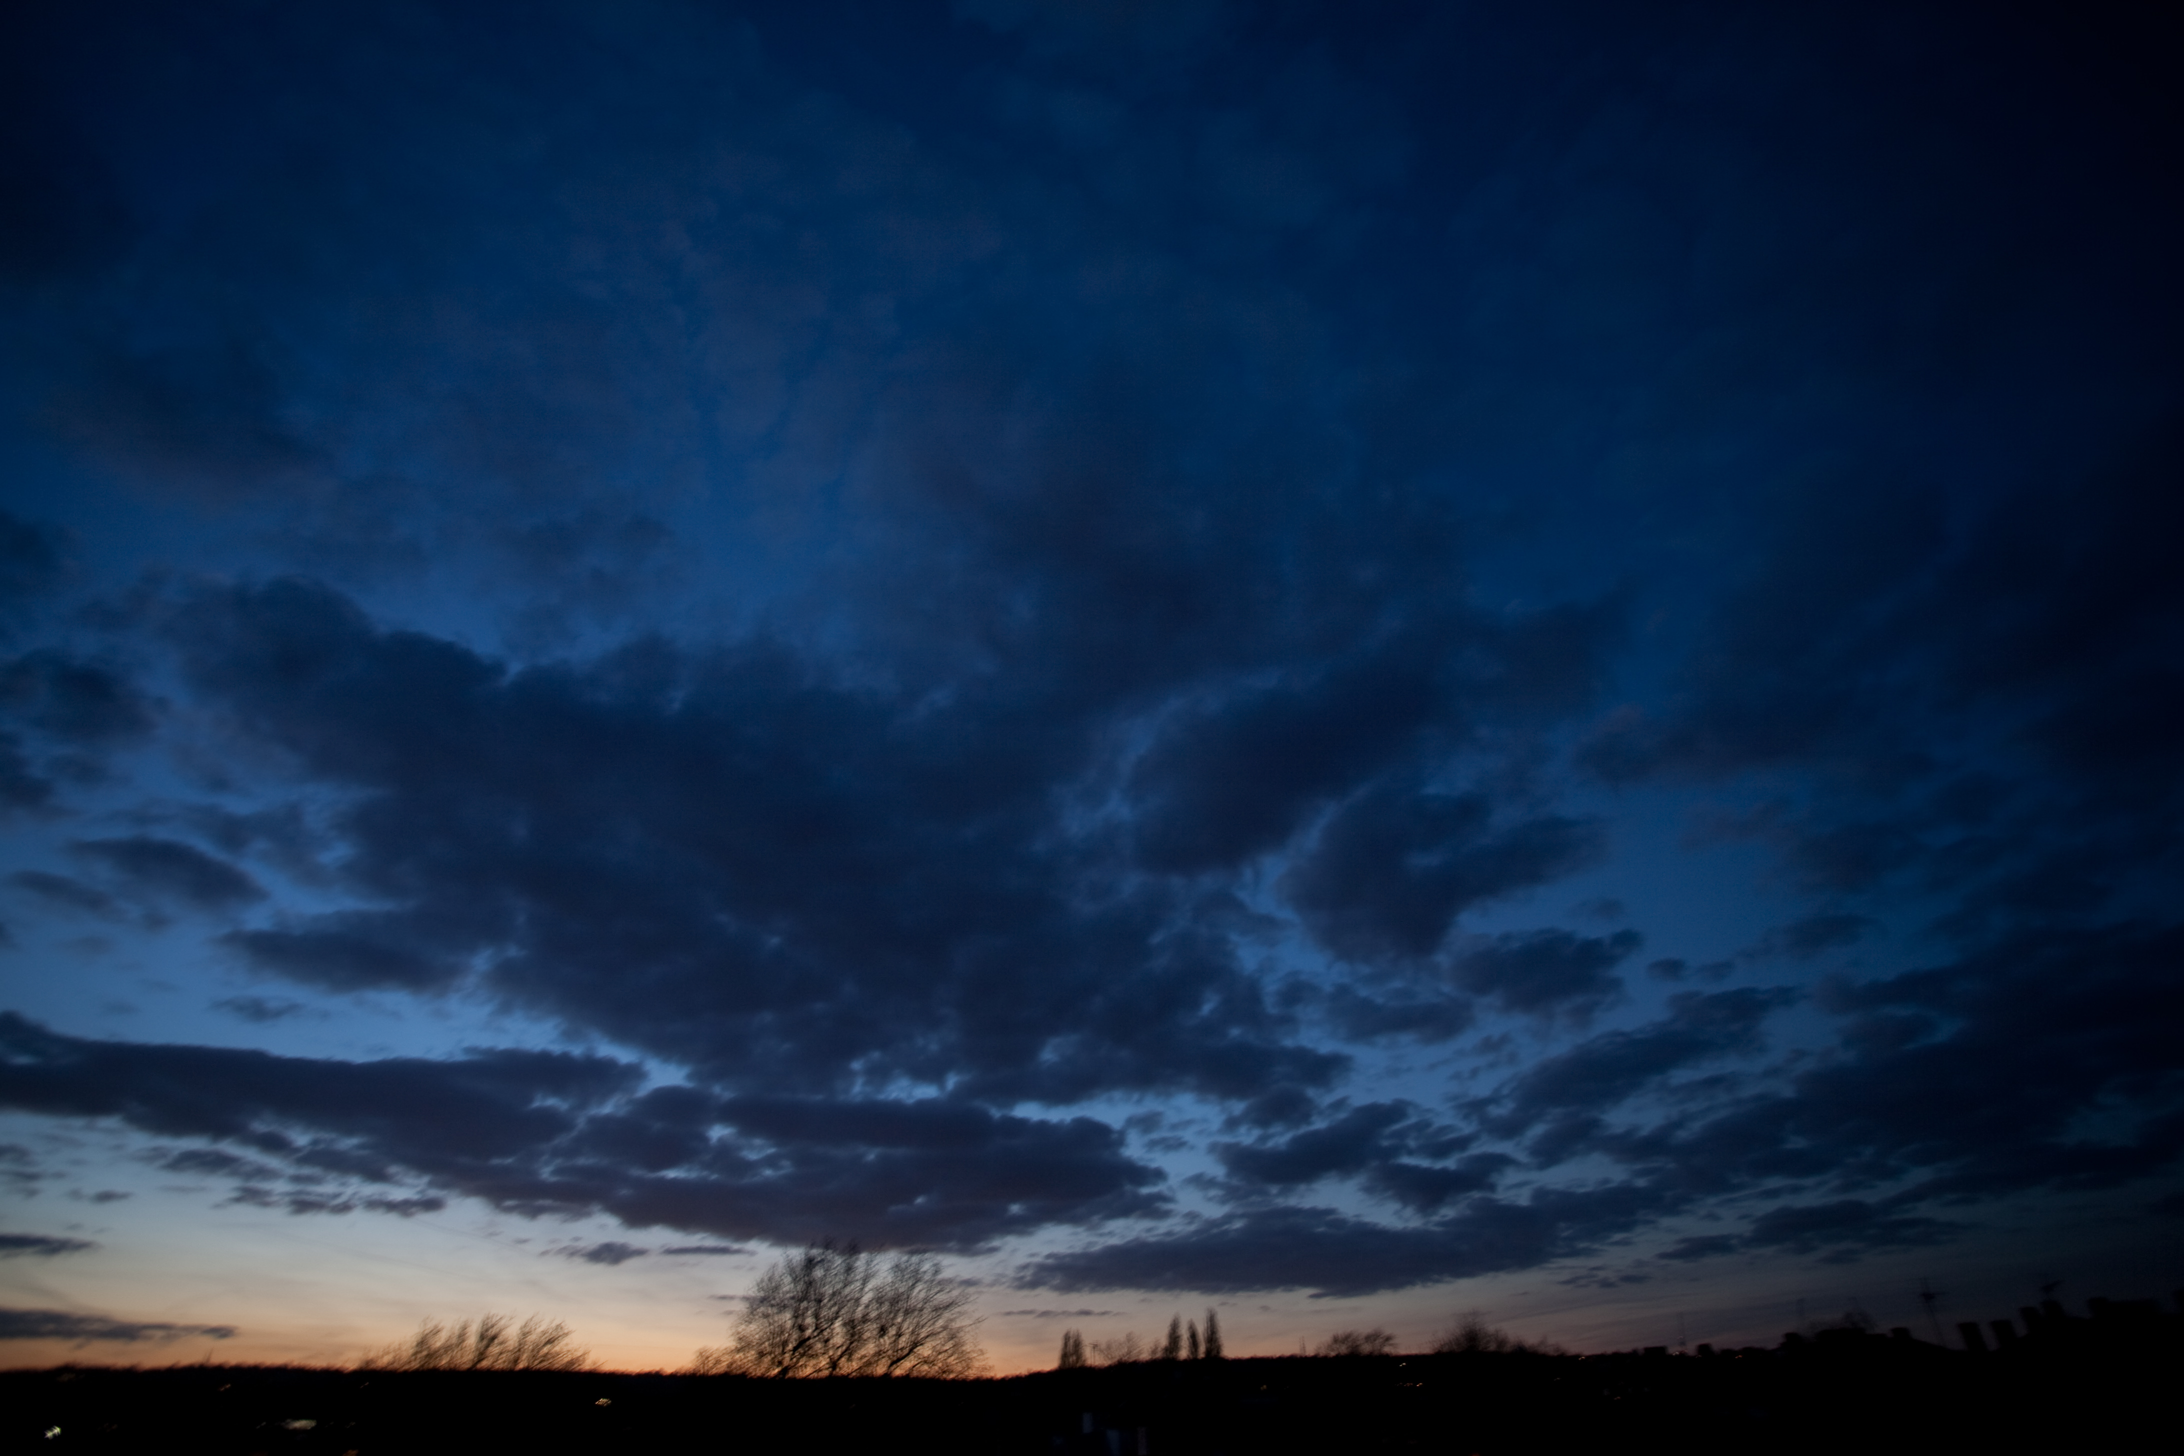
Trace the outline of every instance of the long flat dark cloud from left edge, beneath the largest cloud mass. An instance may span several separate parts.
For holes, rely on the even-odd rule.
[[[290,1214],[432,1212],[443,1190],[515,1214],[603,1212],[729,1238],[976,1246],[1164,1203],[1162,1174],[1092,1118],[636,1094],[640,1067],[574,1052],[354,1063],[87,1041],[13,1013],[0,1013],[0,1107],[205,1139],[162,1166]],[[400,1181],[424,1192],[371,1188]]]

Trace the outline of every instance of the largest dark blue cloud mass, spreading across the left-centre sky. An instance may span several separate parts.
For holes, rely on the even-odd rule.
[[[1197,891],[1085,904],[1127,864],[1042,843],[1042,764],[981,755],[1016,738],[1007,703],[904,723],[764,644],[511,672],[295,581],[168,631],[240,725],[356,795],[343,875],[389,906],[234,932],[258,969],[430,987],[491,950],[502,993],[747,1085],[863,1059],[983,1096],[1251,1096],[1341,1065],[1286,1039]]]

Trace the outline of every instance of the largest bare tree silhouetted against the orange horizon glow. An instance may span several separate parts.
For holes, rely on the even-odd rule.
[[[933,1255],[885,1266],[856,1244],[812,1244],[758,1277],[736,1334],[692,1371],[747,1375],[970,1375],[983,1353],[970,1290]]]

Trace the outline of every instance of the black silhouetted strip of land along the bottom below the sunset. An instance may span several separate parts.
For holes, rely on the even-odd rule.
[[[2180,1356],[2164,1332],[1992,1353],[1845,1334],[1719,1356],[1147,1362],[978,1382],[59,1369],[0,1373],[0,1443],[269,1456],[2127,1452],[2175,1436]]]

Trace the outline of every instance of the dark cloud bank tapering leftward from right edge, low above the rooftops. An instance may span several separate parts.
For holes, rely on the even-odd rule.
[[[2173,1076],[2177,932],[2040,932],[1946,967],[1835,991],[1843,1046],[1780,1091],[1651,1129],[1597,1133],[1651,1181],[1693,1192],[1828,1179],[1968,1203],[2099,1190],[2167,1168],[2184,1124],[2134,1087]],[[2132,1109],[2088,1135],[2097,1107]]]

